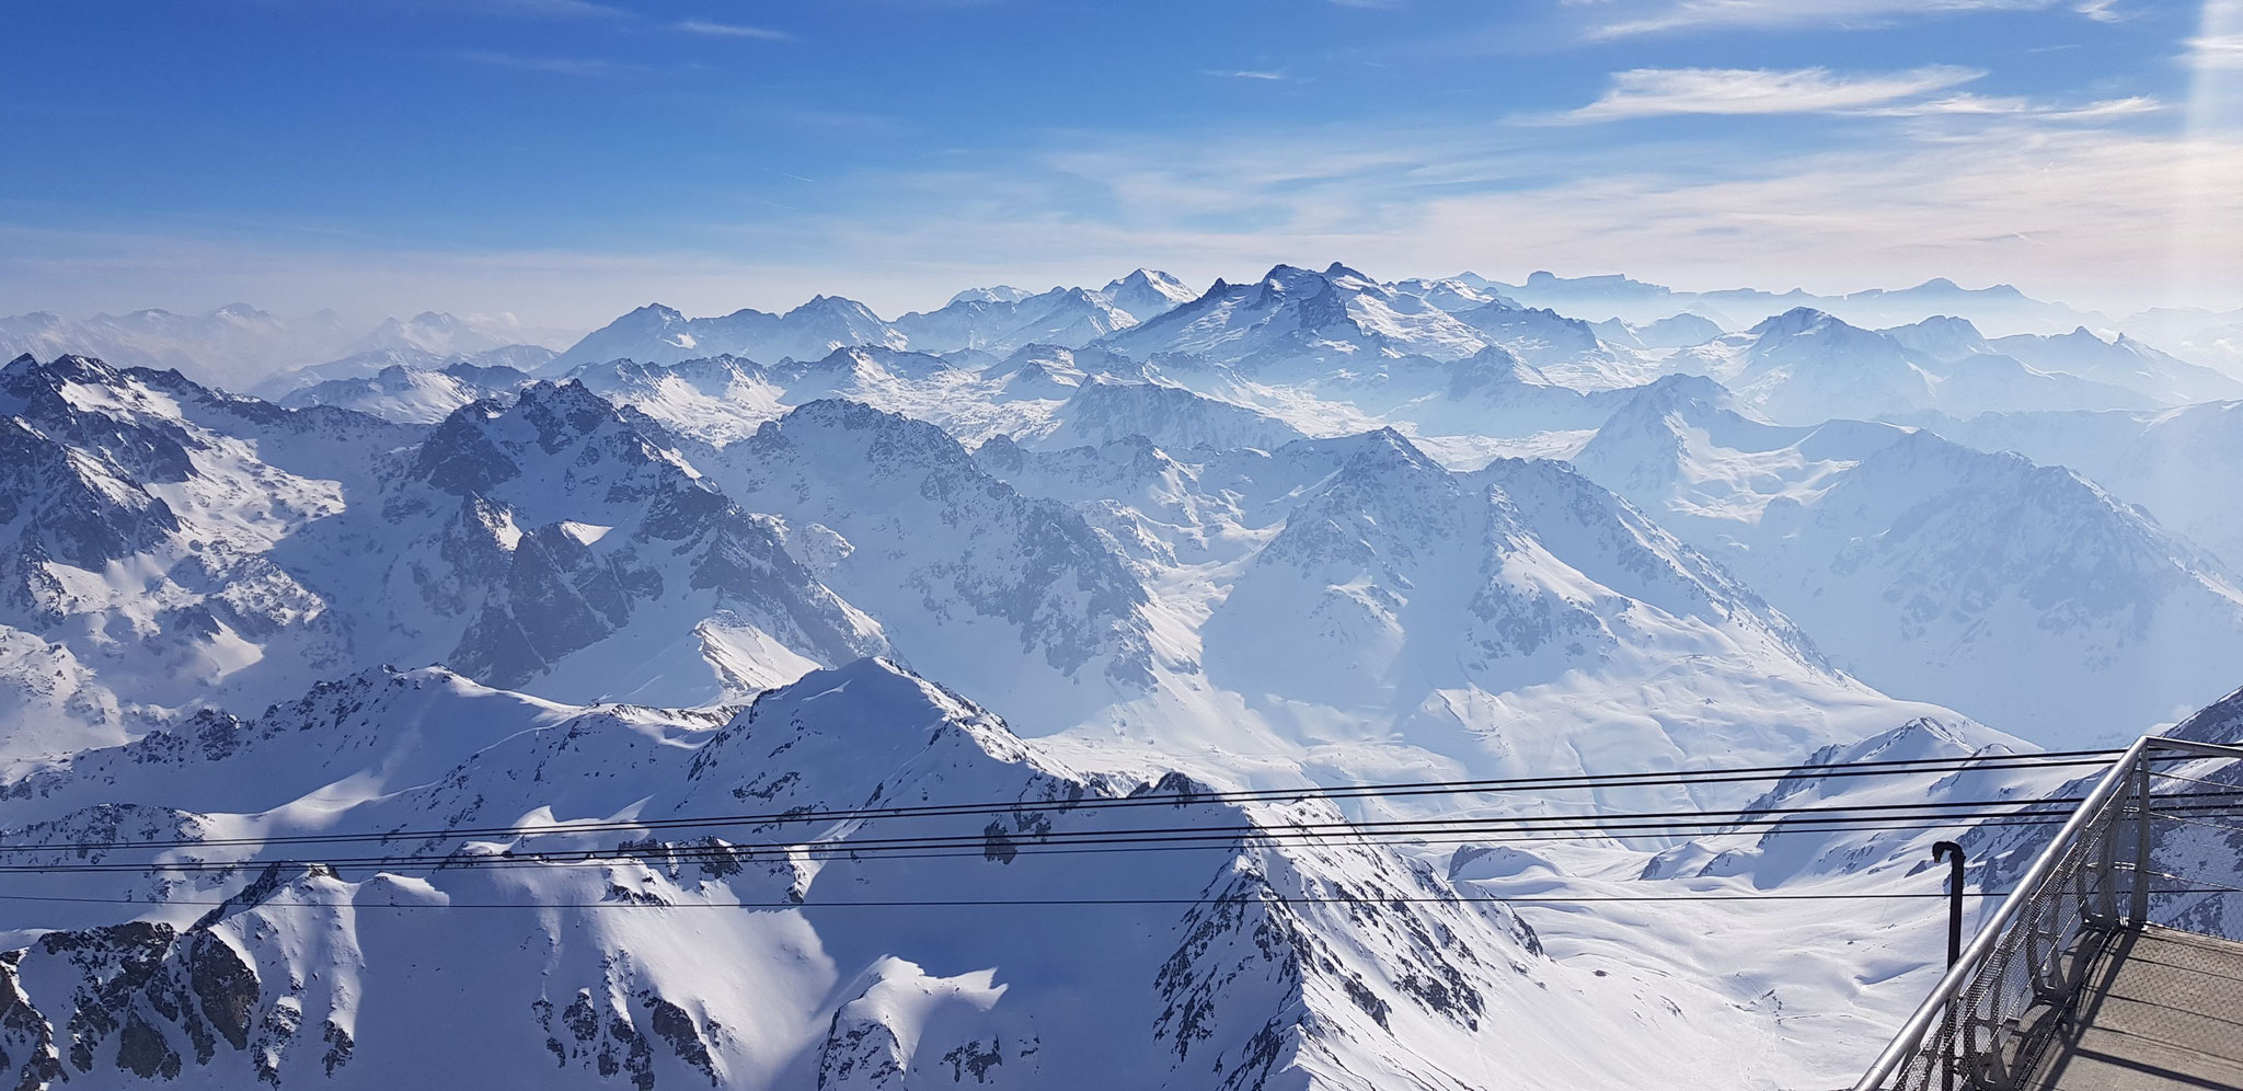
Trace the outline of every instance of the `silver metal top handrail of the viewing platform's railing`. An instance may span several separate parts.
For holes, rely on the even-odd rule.
[[[1987,956],[2001,945],[2003,936],[2010,932],[2012,925],[2016,925],[2019,916],[2037,900],[2041,900],[2043,896],[2041,887],[2057,871],[2059,862],[2064,862],[2070,855],[2070,851],[2079,846],[2082,835],[2104,817],[2104,810],[2115,799],[2120,799],[2122,792],[2126,792],[2129,779],[2140,781],[2140,792],[2142,792],[2140,813],[2144,815],[2144,822],[2135,844],[2138,853],[2135,882],[2131,889],[2131,905],[2126,916],[2135,925],[2142,923],[2142,918],[2147,916],[2147,896],[2149,896],[2149,884],[2142,882],[2140,875],[2147,871],[2147,853],[2149,853],[2147,774],[2149,774],[2151,750],[2167,750],[2167,752],[2209,757],[2209,759],[2243,759],[2243,748],[2194,743],[2187,739],[2167,739],[2156,734],[2142,736],[2131,748],[2126,748],[2126,752],[2095,783],[2095,790],[2090,790],[2086,799],[2079,801],[2079,808],[2073,810],[2073,817],[2064,824],[2064,828],[2057,831],[2057,835],[2048,842],[2041,855],[2032,860],[2032,867],[2028,867],[2025,873],[2016,878],[2016,884],[2012,887],[2010,896],[1994,907],[1994,914],[1987,916],[1985,923],[1978,927],[1978,934],[1972,938],[1969,947],[1963,950],[1963,956],[1947,968],[1947,974],[1942,974],[1938,985],[1931,988],[1931,994],[1924,997],[1924,1003],[1916,1008],[1916,1015],[1911,1015],[1909,1021],[1902,1024],[1893,1042],[1884,1046],[1884,1053],[1877,1055],[1868,1073],[1864,1073],[1862,1080],[1853,1084],[1853,1091],[1882,1089],[1886,1080],[1891,1080],[1904,1064],[1909,1064],[1909,1060],[1918,1057],[1918,1053],[1924,1046],[1924,1037],[1931,1035],[1931,1028],[1942,1019],[1951,1019],[1949,1008],[1958,1003],[1978,981],[1978,974],[1985,968]],[[2115,835],[2115,831],[2111,833]],[[2104,844],[2106,855],[2111,853],[2111,849],[2113,849],[2111,844]]]

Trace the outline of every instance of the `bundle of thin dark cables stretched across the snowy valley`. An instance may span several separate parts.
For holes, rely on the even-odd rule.
[[[980,833],[920,833],[888,837],[801,837],[763,842],[720,842],[713,833],[702,833],[702,842],[662,842],[655,833],[673,831],[724,831],[749,826],[756,831],[785,828],[792,824],[830,824],[850,831],[868,822],[922,824],[944,817],[1025,817],[1039,813],[1090,813],[1090,810],[1137,810],[1137,808],[1187,808],[1187,806],[1247,806],[1247,804],[1299,804],[1308,799],[1353,801],[1353,799],[1411,799],[1411,797],[1465,797],[1465,795],[1550,795],[1613,788],[1691,788],[1711,783],[1747,781],[1833,781],[1857,777],[1945,777],[1954,772],[2003,772],[2039,768],[2093,768],[2106,765],[2117,750],[2061,750],[2039,754],[1987,754],[1960,759],[1893,759],[1857,761],[1844,765],[1756,765],[1716,768],[1691,772],[1624,772],[1624,774],[1559,774],[1559,777],[1507,777],[1507,779],[1458,779],[1458,781],[1406,781],[1335,788],[1274,788],[1274,790],[1182,790],[1182,792],[1137,792],[1126,797],[1086,799],[1012,799],[976,804],[926,804],[926,806],[875,806],[832,810],[783,810],[758,815],[713,815],[673,819],[603,819],[603,822],[556,822],[541,826],[462,826],[462,828],[393,828],[368,833],[298,833],[276,837],[211,837],[211,840],[141,840],[141,842],[65,842],[65,844],[0,844],[0,860],[20,853],[132,853],[166,849],[274,849],[274,846],[334,846],[334,844],[397,844],[397,842],[451,842],[444,853],[377,853],[350,858],[244,858],[244,860],[74,860],[74,862],[0,862],[0,873],[11,875],[56,875],[56,873],[233,873],[244,869],[372,869],[372,871],[449,871],[469,867],[615,867],[624,862],[790,862],[790,860],[931,860],[931,858],[998,858],[1021,855],[1079,855],[1079,853],[1146,853],[1146,851],[1238,851],[1247,844],[1532,844],[1532,842],[1584,842],[1613,837],[1689,837],[1718,833],[1844,833],[1844,831],[1933,831],[1969,826],[2052,826],[2061,824],[2066,808],[2079,797],[2043,799],[1963,799],[1963,801],[1918,801],[1918,804],[1824,804],[1824,806],[1763,806],[1732,810],[1640,810],[1640,813],[1586,813],[1586,815],[1442,815],[1413,819],[1355,819],[1355,822],[1245,822],[1245,824],[1184,824],[1184,826],[1137,826],[1108,831],[1005,831],[1000,826]],[[2209,781],[2207,781],[2209,783]],[[2227,786],[2216,786],[2227,788]],[[2191,792],[2196,804],[2176,804],[2160,817],[2189,822],[2189,815],[2205,819],[2236,808],[2236,790]],[[563,835],[630,833],[641,840],[626,840],[612,849],[532,849],[523,842]],[[478,849],[473,842],[516,842],[507,849]],[[1990,896],[1994,891],[1983,891]],[[1590,902],[1590,900],[1826,900],[1826,898],[1920,898],[1933,893],[1662,893],[1662,896],[1577,896],[1577,898],[1485,898],[1510,902]],[[9,900],[72,900],[72,902],[126,902],[126,905],[231,905],[231,902],[130,902],[123,898],[38,898],[7,896]],[[1480,900],[1458,896],[1465,900]],[[1166,898],[1050,898],[1050,900],[881,900],[881,902],[819,902],[819,905],[1169,905]],[[310,902],[301,902],[310,905]],[[489,902],[476,907],[511,907],[514,902]],[[529,902],[523,902],[525,907]],[[543,902],[538,902],[543,905]],[[588,907],[639,907],[644,902],[590,902]],[[711,902],[680,902],[711,905]],[[453,902],[451,907],[469,907]],[[552,907],[552,905],[543,905]],[[756,905],[740,905],[756,907]],[[772,902],[774,909],[801,907],[801,902]],[[428,905],[435,909],[435,905]]]

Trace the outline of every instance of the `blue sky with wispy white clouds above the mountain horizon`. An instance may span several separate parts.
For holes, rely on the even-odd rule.
[[[9,4],[0,314],[1628,272],[2243,305],[2243,0]]]

